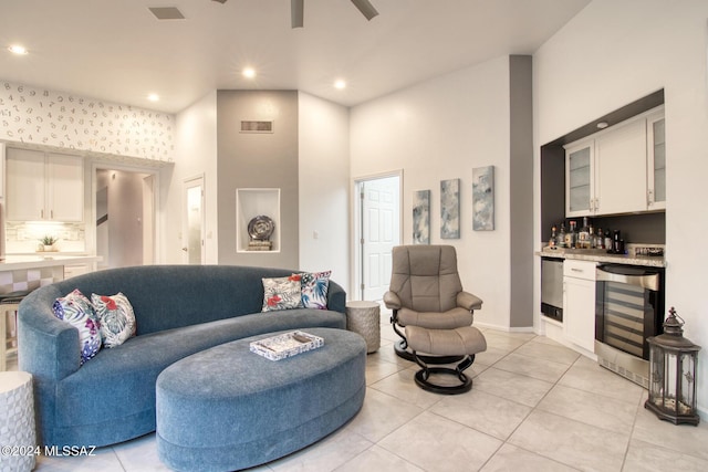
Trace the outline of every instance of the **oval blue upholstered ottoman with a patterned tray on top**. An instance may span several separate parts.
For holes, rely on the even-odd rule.
[[[304,331],[324,338],[324,346],[282,360],[249,350],[252,340],[278,334],[271,333],[163,370],[156,389],[159,459],[178,471],[251,468],[310,445],[354,417],[366,391],[366,343],[344,329]]]

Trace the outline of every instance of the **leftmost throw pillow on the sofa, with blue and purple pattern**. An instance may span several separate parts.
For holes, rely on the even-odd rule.
[[[81,365],[101,350],[101,323],[93,305],[77,289],[56,298],[52,306],[54,316],[79,329]]]

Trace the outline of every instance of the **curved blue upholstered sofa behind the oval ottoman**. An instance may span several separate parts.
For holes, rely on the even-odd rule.
[[[261,279],[293,271],[228,265],[112,269],[58,282],[19,310],[19,368],[33,376],[38,440],[46,445],[108,445],[155,431],[155,382],[175,361],[249,336],[306,327],[346,327],[346,294],[330,281],[327,310],[261,313]],[[52,304],[79,289],[125,294],[137,336],[80,366],[79,332]],[[218,375],[218,373],[214,373]]]

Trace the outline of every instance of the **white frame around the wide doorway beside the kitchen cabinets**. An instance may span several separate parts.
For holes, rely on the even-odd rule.
[[[96,171],[97,170],[121,170],[124,172],[146,174],[153,177],[153,262],[158,264],[162,261],[162,220],[159,214],[159,195],[160,195],[160,169],[155,167],[129,166],[110,160],[94,160],[91,162],[91,222],[90,230],[86,231],[86,248],[92,248],[95,254],[97,250],[96,241]]]

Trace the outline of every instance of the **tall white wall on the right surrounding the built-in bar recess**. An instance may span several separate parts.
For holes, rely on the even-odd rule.
[[[708,234],[707,19],[705,0],[594,0],[534,54],[533,81],[537,181],[541,145],[665,88],[666,304],[686,321],[685,335],[704,346],[698,371],[698,405],[704,412],[708,411],[708,245],[701,243]],[[538,191],[535,196],[539,221]],[[540,241],[540,229],[537,235]]]

